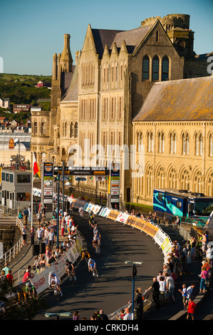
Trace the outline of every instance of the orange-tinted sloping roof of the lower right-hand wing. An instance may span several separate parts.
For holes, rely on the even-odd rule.
[[[213,120],[213,76],[155,83],[136,121]]]

